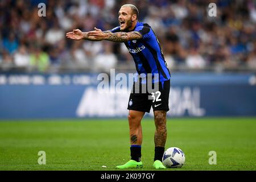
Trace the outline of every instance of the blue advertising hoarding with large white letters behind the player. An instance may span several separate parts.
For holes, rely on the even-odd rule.
[[[129,84],[118,92],[114,77],[102,93],[98,76],[0,74],[0,119],[127,117]],[[169,106],[168,117],[255,116],[255,76],[172,73]]]

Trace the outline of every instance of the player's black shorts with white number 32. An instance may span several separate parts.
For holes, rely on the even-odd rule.
[[[138,89],[135,88],[135,85],[139,85],[139,93],[135,92]],[[153,111],[155,110],[169,110],[169,93],[170,93],[170,80],[158,82],[158,88],[154,89],[154,86],[148,89],[146,84],[139,84],[138,82],[134,82],[133,89],[131,90],[128,107],[129,110],[150,112],[151,106]],[[142,89],[147,88],[146,92]],[[144,92],[143,92],[144,91]]]

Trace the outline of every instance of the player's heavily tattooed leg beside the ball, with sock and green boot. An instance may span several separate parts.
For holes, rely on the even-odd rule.
[[[166,111],[154,111],[155,119],[155,158],[153,166],[156,169],[165,169],[162,164],[164,146],[166,145],[167,127]]]

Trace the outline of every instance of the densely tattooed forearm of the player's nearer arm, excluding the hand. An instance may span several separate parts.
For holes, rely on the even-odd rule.
[[[137,40],[141,39],[142,35],[139,32],[116,32],[116,33],[106,33],[106,40],[113,42],[127,42],[128,40]]]

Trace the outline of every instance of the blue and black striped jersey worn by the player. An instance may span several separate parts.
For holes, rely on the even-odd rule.
[[[111,30],[113,33],[120,31],[119,26]],[[131,56],[133,56],[138,76],[146,77],[148,73],[151,73],[154,78],[154,75],[157,73],[159,76],[157,80],[170,80],[170,72],[164,60],[159,41],[152,28],[147,23],[137,22],[132,31],[138,31],[142,34],[142,39],[125,42],[125,46],[128,48]]]

